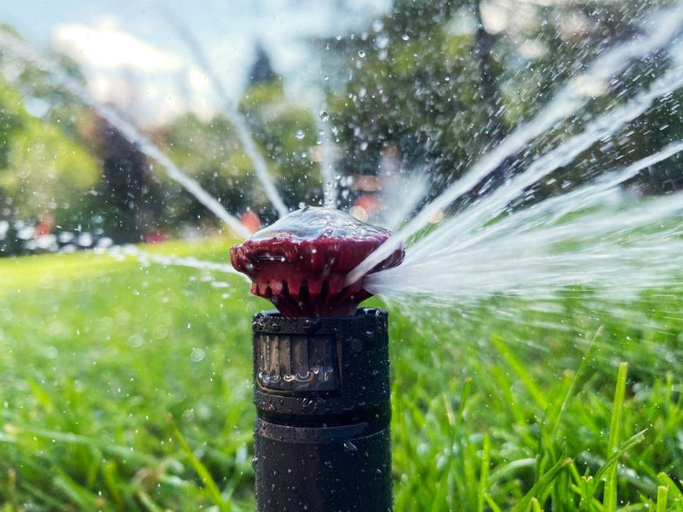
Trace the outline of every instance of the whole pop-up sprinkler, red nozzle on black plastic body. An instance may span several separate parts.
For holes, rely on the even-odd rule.
[[[253,319],[258,512],[391,511],[387,314],[356,265],[390,233],[303,208],[231,250],[280,314]],[[372,272],[399,265],[393,252]]]

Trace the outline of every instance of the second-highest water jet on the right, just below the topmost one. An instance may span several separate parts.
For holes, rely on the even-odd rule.
[[[595,142],[610,137],[628,122],[647,112],[652,102],[658,97],[682,86],[683,65],[677,65],[655,80],[647,91],[641,92],[622,107],[593,119],[583,132],[570,137],[555,149],[536,159],[526,171],[514,176],[508,183],[497,188],[475,206],[471,206],[461,215],[455,215],[439,230],[420,240],[418,246],[431,247],[431,252],[433,247],[439,246],[438,240],[452,240],[457,245],[460,235],[479,228],[487,220],[502,213],[509,201],[517,198],[527,187],[534,185],[559,167],[570,164],[576,156],[589,149]],[[414,250],[418,250],[418,246],[414,247]]]

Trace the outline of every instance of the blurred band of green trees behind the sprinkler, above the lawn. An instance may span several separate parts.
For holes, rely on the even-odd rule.
[[[489,4],[396,0],[369,26],[312,42],[320,83],[310,87],[312,94],[322,91],[323,119],[310,101],[285,94],[284,79],[259,50],[238,108],[287,206],[322,201],[319,144],[327,132],[334,174],[346,188],[343,206],[358,194],[344,176],[377,174],[386,153],[396,156],[402,173],[428,171],[429,196],[438,194],[538,112],[568,78],[610,46],[641,33],[647,15],[671,1],[499,3],[502,15],[512,18],[504,29],[483,24],[482,9]],[[10,27],[0,30],[14,33]],[[78,65],[54,58],[85,83]],[[32,63],[16,64],[8,52],[0,53],[0,65],[11,68],[5,73],[11,79],[0,79],[0,220],[31,223],[49,211],[63,230],[99,229],[115,242],[157,232],[176,235],[197,225],[219,227],[162,169]],[[598,88],[588,107],[504,162],[475,193],[524,169],[596,113],[627,101],[668,65],[666,51],[653,53],[605,90],[593,84]],[[663,97],[631,127],[600,140],[528,195],[539,199],[566,191],[612,169],[615,161],[627,165],[681,139],[681,99],[679,91]],[[275,220],[226,115],[216,112],[205,121],[186,114],[155,127],[150,137],[228,211],[239,215],[250,208],[264,223]],[[680,169],[674,156],[630,185],[644,193],[671,192],[683,186]]]

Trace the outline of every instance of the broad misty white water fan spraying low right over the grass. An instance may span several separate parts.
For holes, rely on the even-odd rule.
[[[558,287],[573,284],[608,284],[606,294],[634,292],[670,282],[681,272],[680,225],[649,235],[640,231],[681,215],[681,198],[664,196],[613,215],[598,211],[540,230],[510,230],[438,261],[370,274],[364,286],[378,294],[433,294],[442,302],[495,292],[551,298]],[[578,245],[566,252],[558,250],[558,242]]]

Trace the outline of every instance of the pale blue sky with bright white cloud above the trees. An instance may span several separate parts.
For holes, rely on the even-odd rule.
[[[363,30],[389,0],[4,1],[7,23],[40,48],[70,55],[97,100],[142,125],[186,110],[209,117],[220,102],[174,23],[198,41],[233,100],[260,42],[290,96],[314,102],[322,77],[310,41]],[[305,91],[306,94],[302,94]],[[313,92],[313,93],[311,93]],[[318,105],[309,105],[317,108]]]

